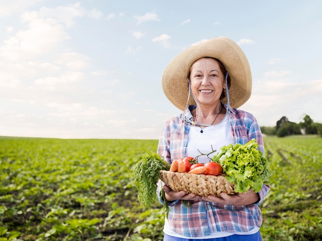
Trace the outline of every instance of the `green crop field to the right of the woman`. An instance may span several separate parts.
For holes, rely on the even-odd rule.
[[[271,191],[263,203],[267,240],[322,239],[322,139],[265,138]]]

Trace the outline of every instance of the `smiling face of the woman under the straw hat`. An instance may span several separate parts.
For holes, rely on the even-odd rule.
[[[190,69],[191,91],[203,105],[216,105],[225,88],[224,73],[213,58],[201,58]]]

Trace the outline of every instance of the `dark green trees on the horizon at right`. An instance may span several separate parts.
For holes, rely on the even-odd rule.
[[[275,127],[261,127],[262,133],[266,135],[277,135],[284,137],[288,135],[319,135],[322,137],[322,123],[315,123],[309,115],[300,123],[290,122],[288,117],[283,116],[276,122]]]

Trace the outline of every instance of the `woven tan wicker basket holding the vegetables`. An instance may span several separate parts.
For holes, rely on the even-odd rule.
[[[185,191],[199,196],[220,196],[220,193],[235,194],[234,185],[225,176],[192,174],[187,172],[160,171],[160,179],[173,191]]]

